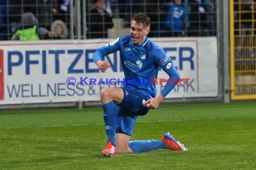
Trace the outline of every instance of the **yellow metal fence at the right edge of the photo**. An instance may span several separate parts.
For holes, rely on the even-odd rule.
[[[230,98],[256,99],[256,2],[230,0]]]

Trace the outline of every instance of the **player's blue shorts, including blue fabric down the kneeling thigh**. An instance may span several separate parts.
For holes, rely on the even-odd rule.
[[[117,109],[116,133],[132,136],[138,115],[146,115],[150,110],[143,105],[144,102],[152,97],[144,90],[124,87],[122,89],[124,91],[124,98]]]

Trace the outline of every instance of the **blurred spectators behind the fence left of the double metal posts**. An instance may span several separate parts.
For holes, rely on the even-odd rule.
[[[69,0],[0,0],[0,40],[68,38]]]

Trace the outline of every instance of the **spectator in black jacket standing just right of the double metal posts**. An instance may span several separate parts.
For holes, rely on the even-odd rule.
[[[88,14],[88,38],[107,38],[107,29],[114,26],[112,18],[104,10],[104,0],[94,0],[95,9]]]

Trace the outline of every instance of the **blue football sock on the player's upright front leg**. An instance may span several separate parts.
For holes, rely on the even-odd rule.
[[[113,146],[115,144],[115,125],[116,125],[116,106],[115,102],[109,102],[102,105],[104,111],[104,122],[106,128],[106,134],[108,137],[107,141],[110,141]]]

